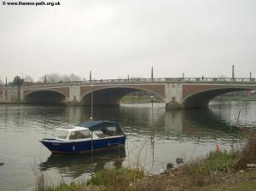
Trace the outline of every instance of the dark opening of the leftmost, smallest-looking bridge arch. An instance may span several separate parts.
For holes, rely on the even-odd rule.
[[[33,90],[24,96],[26,103],[64,104],[67,96],[58,90]]]

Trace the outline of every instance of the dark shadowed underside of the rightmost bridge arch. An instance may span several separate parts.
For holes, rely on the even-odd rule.
[[[216,96],[220,96],[225,93],[241,91],[241,90],[256,90],[254,87],[224,87],[215,88],[209,90],[201,90],[185,96],[182,102],[182,108],[196,108],[196,107],[208,107],[209,102]]]

